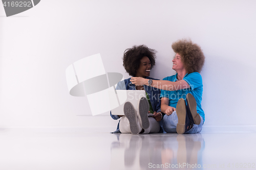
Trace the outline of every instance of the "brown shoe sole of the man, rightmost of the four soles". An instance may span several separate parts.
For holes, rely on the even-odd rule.
[[[194,123],[199,125],[201,123],[201,117],[197,113],[197,101],[191,93],[187,94],[187,103],[193,117]]]

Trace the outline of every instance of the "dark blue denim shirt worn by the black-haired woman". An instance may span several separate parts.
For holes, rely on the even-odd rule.
[[[153,79],[150,77],[146,77],[146,79],[159,80],[159,79]],[[132,82],[130,80],[131,80],[131,78],[118,82],[118,84],[116,86],[116,90],[136,90],[135,84],[132,84]],[[155,111],[160,112],[161,111],[161,100],[159,99],[159,97],[161,94],[161,90],[158,88],[146,86],[146,85],[143,85],[143,87],[144,87],[146,93],[148,94],[148,97],[150,98],[150,102],[151,102],[154,112]],[[110,115],[115,120],[120,118],[118,115],[112,115],[111,111],[110,111]],[[116,131],[113,133],[120,133],[119,123],[117,125]]]

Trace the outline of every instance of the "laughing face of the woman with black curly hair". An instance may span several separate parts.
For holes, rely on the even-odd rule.
[[[140,67],[136,72],[136,77],[148,77],[150,76],[150,69],[151,69],[151,62],[150,59],[148,59],[148,57],[143,57],[140,60]]]

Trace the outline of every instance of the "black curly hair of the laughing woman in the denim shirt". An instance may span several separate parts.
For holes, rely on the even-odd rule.
[[[146,45],[134,45],[132,48],[127,48],[123,53],[124,69],[130,76],[136,76],[140,67],[140,60],[145,56],[150,59],[152,68],[156,64],[156,52],[156,50],[148,48]]]

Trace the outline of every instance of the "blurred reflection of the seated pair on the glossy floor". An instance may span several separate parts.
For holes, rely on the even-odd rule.
[[[202,162],[205,142],[200,133],[116,136],[117,141],[111,144],[111,169],[168,169],[179,165],[192,169]]]

